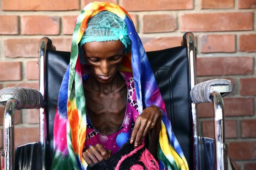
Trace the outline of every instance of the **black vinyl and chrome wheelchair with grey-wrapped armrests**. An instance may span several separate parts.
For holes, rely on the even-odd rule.
[[[196,84],[196,47],[191,32],[181,46],[146,52],[172,129],[194,170],[236,169],[228,158],[225,143],[225,114],[222,97],[231,92],[229,80],[214,79]],[[38,50],[39,91],[22,87],[0,90],[4,113],[4,170],[49,170],[53,160],[53,125],[57,97],[70,52],[56,51],[49,38],[42,38]],[[199,96],[199,97],[198,97]],[[212,102],[215,138],[198,135],[196,103]],[[16,109],[40,108],[40,141],[14,148]]]

